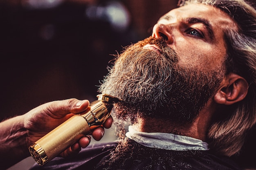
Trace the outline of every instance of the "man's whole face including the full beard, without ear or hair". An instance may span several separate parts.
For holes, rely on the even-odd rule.
[[[153,37],[122,53],[101,85],[120,99],[119,117],[191,122],[225,75],[223,29],[234,24],[211,6],[174,9],[154,26]],[[164,40],[165,39],[165,40]]]

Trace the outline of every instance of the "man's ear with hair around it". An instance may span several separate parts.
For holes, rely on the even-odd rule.
[[[243,77],[235,73],[229,73],[221,82],[213,100],[218,104],[234,104],[245,98],[248,87],[249,85]]]

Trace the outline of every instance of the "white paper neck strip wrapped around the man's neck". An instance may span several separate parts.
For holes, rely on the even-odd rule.
[[[139,132],[129,126],[126,136],[149,148],[166,150],[208,150],[208,144],[199,139],[171,133]]]

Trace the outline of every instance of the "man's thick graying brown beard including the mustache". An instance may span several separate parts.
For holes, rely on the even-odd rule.
[[[159,51],[143,49],[155,44]],[[202,72],[178,64],[175,51],[159,38],[128,47],[115,61],[99,88],[123,103],[115,104],[120,119],[150,117],[190,123],[219,86],[223,69]]]

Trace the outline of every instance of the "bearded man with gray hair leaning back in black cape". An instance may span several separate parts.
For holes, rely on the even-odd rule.
[[[229,157],[256,122],[256,10],[244,0],[180,6],[117,56],[99,88],[124,100],[112,110],[119,142],[34,169],[240,169]]]

